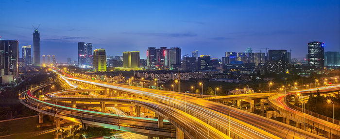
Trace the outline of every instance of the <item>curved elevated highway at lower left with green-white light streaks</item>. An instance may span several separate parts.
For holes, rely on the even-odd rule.
[[[51,104],[35,98],[32,95],[35,90],[22,92],[19,99],[22,104],[41,114],[82,124],[133,132],[149,137],[175,137],[175,127],[171,126],[166,120],[164,121],[164,127],[159,128],[157,119],[122,116]]]

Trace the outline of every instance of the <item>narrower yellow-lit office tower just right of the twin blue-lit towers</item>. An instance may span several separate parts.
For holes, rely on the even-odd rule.
[[[105,49],[96,49],[93,51],[93,67],[95,71],[106,71]]]

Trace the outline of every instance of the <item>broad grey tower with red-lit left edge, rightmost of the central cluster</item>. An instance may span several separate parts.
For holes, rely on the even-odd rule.
[[[172,47],[166,52],[166,66],[168,66],[169,69],[181,67],[181,49],[178,47]]]

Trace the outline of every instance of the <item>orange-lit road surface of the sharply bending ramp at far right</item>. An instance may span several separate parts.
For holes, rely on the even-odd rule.
[[[299,91],[295,91],[295,92],[289,92],[287,94],[290,94],[290,93],[297,93],[297,92],[303,92],[303,91],[314,91],[314,90],[317,90],[319,88],[319,90],[324,90],[324,89],[329,89],[329,88],[334,88],[334,87],[339,87],[338,86],[331,86],[331,87],[316,87],[316,88],[308,88],[308,89],[303,89],[303,90],[299,90]],[[285,103],[285,100],[284,100],[284,97],[286,95],[285,94],[277,94],[277,95],[274,95],[272,97],[270,97],[270,102],[276,106],[279,106],[280,108],[286,110],[286,111],[289,111],[290,113],[292,114],[295,114],[295,115],[299,115],[301,117],[304,117],[304,113],[301,112],[301,111],[298,111],[298,110],[295,110],[293,108],[290,108],[286,103]],[[327,103],[327,102],[325,102]],[[332,127],[332,130],[335,129],[337,131],[340,131],[340,126],[337,125],[337,124],[333,124],[332,122],[327,122],[327,121],[324,121],[322,119],[319,119],[319,118],[316,118],[314,116],[311,116],[309,114],[305,114],[306,116],[306,119],[310,120],[310,121],[313,121],[313,122],[316,122],[316,123],[319,123],[321,125],[326,125],[327,127]]]

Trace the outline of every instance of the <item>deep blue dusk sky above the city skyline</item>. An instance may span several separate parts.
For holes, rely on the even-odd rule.
[[[304,58],[307,43],[340,51],[340,0],[0,0],[0,36],[32,45],[40,55],[77,60],[78,42],[106,55],[148,47],[180,47],[221,58],[227,51],[292,50]],[[33,50],[32,50],[33,52]],[[20,54],[21,57],[21,54]]]

